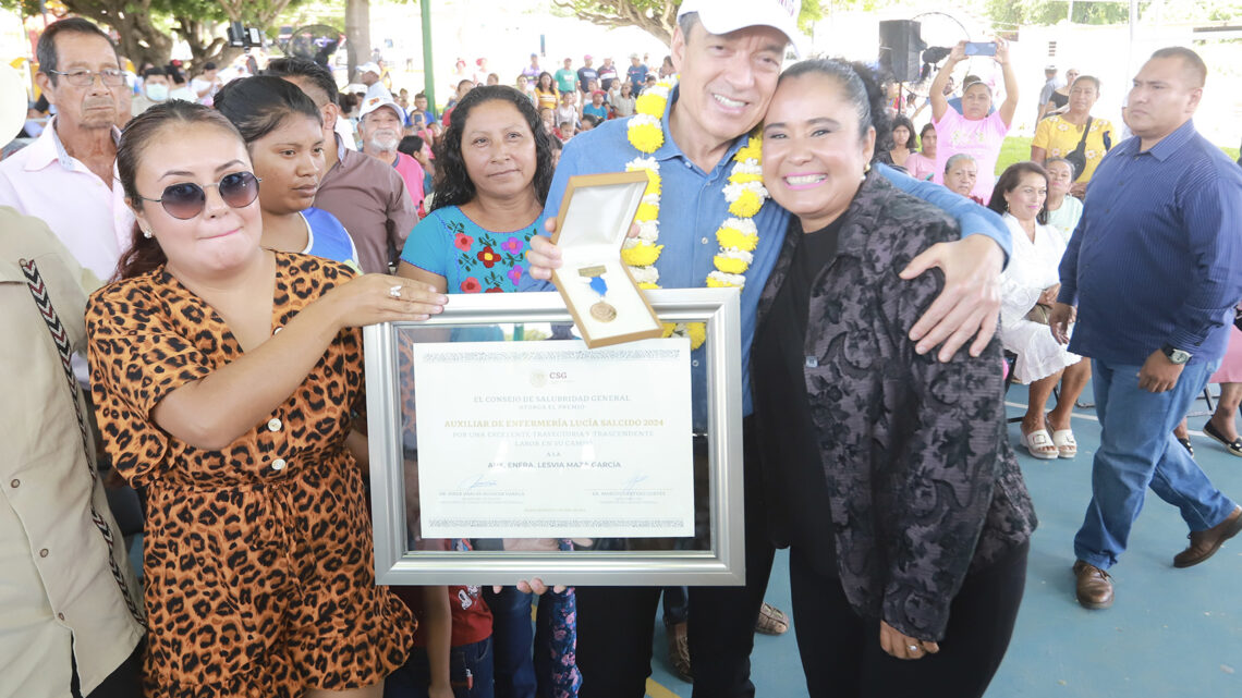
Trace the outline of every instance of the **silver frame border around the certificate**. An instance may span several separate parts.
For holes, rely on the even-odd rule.
[[[733,288],[646,292],[664,323],[704,323],[707,507],[702,549],[653,550],[411,550],[399,337],[412,328],[529,327],[573,322],[555,292],[456,294],[445,313],[422,323],[364,328],[375,578],[383,585],[512,585],[539,578],[561,585],[710,585],[745,582],[741,477],[741,340]],[[443,333],[440,337],[448,337]],[[696,435],[687,435],[687,438]]]

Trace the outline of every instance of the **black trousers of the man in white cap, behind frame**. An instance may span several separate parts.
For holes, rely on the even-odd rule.
[[[689,587],[694,698],[749,698],[750,650],[768,590],[774,548],[768,538],[759,458],[744,428],[745,586]],[[642,698],[651,676],[658,586],[578,587],[578,667],[582,698]]]

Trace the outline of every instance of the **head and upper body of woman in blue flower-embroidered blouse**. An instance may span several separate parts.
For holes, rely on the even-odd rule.
[[[517,291],[555,169],[539,113],[512,87],[474,88],[453,109],[436,166],[431,212],[397,274],[448,293]]]

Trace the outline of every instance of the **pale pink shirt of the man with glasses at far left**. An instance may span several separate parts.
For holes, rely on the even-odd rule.
[[[113,181],[104,183],[65,150],[55,127],[52,117],[37,140],[0,163],[0,206],[42,219],[78,265],[107,281],[129,248],[134,214],[125,205],[117,165]],[[113,128],[112,138],[119,139],[120,132]]]

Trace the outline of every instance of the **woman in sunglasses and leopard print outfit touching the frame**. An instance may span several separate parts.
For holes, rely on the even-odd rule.
[[[246,144],[207,107],[132,120],[117,170],[133,247],[86,323],[104,445],[148,501],[144,693],[378,698],[411,622],[370,565],[356,328],[447,298],[263,248]]]

